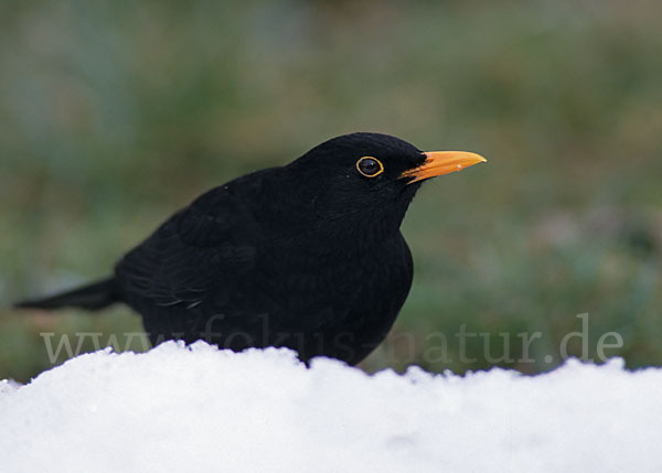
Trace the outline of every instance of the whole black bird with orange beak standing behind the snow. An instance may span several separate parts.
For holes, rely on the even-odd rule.
[[[352,133],[237,178],[177,212],[114,275],[21,308],[124,302],[152,344],[286,346],[356,364],[386,336],[412,286],[399,226],[421,182],[484,162]]]

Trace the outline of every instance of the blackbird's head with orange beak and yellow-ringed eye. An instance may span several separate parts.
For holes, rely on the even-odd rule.
[[[286,169],[318,217],[397,228],[424,181],[485,161],[463,151],[424,152],[388,135],[362,132],[325,141]]]

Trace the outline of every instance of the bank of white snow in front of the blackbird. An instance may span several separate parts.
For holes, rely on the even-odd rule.
[[[164,343],[0,383],[0,471],[660,472],[662,369],[369,376]]]

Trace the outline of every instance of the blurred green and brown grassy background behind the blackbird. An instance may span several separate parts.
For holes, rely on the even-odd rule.
[[[579,313],[591,357],[616,331],[609,355],[661,364],[660,18],[639,0],[0,3],[0,378],[50,366],[42,332],[140,330],[120,308],[10,301],[104,276],[204,190],[357,130],[490,159],[412,206],[414,288],[366,369],[490,366],[479,337],[459,361],[462,324],[495,354],[542,332],[535,363],[499,364],[549,369]],[[425,356],[435,333],[451,359]]]

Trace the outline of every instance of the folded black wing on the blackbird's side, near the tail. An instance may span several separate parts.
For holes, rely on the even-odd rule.
[[[174,214],[116,266],[129,300],[199,305],[252,270],[255,224],[238,198],[216,187]]]

